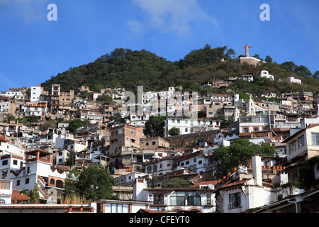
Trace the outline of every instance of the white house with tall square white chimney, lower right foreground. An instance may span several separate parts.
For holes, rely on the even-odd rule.
[[[220,213],[242,213],[248,209],[270,204],[281,196],[281,185],[288,182],[282,170],[262,170],[259,155],[252,156],[252,168],[238,169],[223,179],[216,191],[216,206]]]

